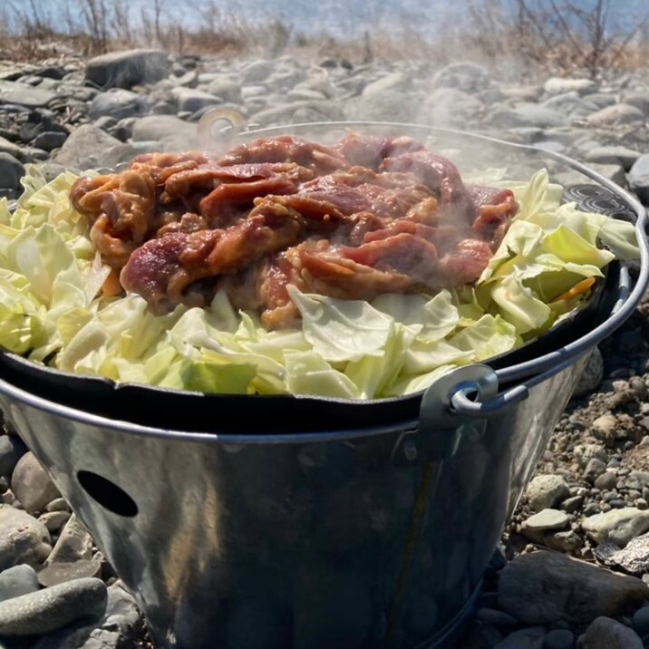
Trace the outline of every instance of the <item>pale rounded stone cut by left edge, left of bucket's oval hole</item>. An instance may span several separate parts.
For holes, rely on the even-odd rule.
[[[43,523],[22,509],[0,505],[0,570],[18,564],[38,566],[51,550]]]

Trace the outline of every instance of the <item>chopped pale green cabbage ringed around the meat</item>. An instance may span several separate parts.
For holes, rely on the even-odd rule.
[[[28,166],[15,210],[0,201],[0,345],[116,382],[344,399],[419,392],[546,332],[586,300],[571,287],[639,255],[632,225],[561,205],[562,189],[541,170],[527,183],[499,181],[520,209],[475,286],[371,304],[290,287],[302,329],[267,332],[223,292],[204,309],[164,316],[139,295],[104,297],[110,269],[70,203],[75,179],[48,183]]]

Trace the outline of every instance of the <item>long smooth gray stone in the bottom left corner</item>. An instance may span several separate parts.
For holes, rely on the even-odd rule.
[[[15,597],[0,603],[0,634],[47,634],[83,617],[99,617],[106,600],[105,584],[92,577]]]

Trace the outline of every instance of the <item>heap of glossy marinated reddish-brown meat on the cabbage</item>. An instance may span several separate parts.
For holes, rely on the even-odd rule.
[[[270,329],[299,318],[289,285],[369,300],[474,282],[518,209],[412,138],[355,133],[334,147],[267,138],[218,160],[147,154],[77,180],[71,199],[121,286],[154,312],[220,288]]]

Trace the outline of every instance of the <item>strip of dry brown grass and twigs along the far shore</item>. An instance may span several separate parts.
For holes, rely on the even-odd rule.
[[[15,0],[9,0],[13,2]],[[473,60],[490,64],[505,78],[646,69],[649,62],[649,12],[632,27],[608,24],[614,0],[593,0],[598,13],[583,15],[569,0],[517,0],[518,13],[505,15],[497,0],[469,0],[460,25],[430,25],[395,20],[361,36],[299,34],[272,16],[256,20],[225,14],[217,0],[186,0],[198,19],[189,27],[162,20],[172,0],[147,0],[137,21],[129,19],[129,0],[75,0],[62,29],[53,30],[39,14],[37,0],[0,7],[0,60],[42,63],[84,59],[109,50],[154,44],[170,53],[232,58],[293,53],[301,60],[324,58],[351,63],[414,60],[433,66]],[[14,14],[9,14],[12,10]],[[581,23],[579,23],[581,21]],[[134,27],[133,24],[137,24]],[[576,31],[572,25],[580,24]],[[4,26],[2,26],[4,25]],[[199,25],[199,26],[197,26]],[[259,36],[263,37],[259,37]]]

